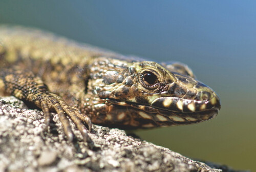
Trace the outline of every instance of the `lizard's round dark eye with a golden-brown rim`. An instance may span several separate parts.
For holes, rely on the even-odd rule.
[[[158,87],[158,78],[153,72],[143,72],[140,76],[140,82],[146,89],[156,89]]]

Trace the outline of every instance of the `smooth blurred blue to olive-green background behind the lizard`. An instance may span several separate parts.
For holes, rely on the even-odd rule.
[[[219,94],[219,115],[135,133],[188,157],[256,171],[255,9],[255,1],[1,1],[0,24],[186,63]]]

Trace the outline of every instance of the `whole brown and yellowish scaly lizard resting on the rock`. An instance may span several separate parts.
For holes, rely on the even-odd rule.
[[[56,36],[0,26],[0,95],[58,114],[73,139],[92,123],[129,130],[198,123],[217,116],[219,96],[180,62],[158,63]],[[88,128],[86,127],[86,125]]]

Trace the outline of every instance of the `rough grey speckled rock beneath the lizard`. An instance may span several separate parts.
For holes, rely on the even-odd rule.
[[[188,159],[167,148],[93,125],[92,142],[68,142],[56,114],[48,131],[44,115],[14,97],[0,97],[0,171],[234,171]]]

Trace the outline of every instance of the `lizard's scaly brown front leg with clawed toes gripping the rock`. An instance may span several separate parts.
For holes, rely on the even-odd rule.
[[[84,141],[88,139],[87,128],[82,121],[86,122],[91,131],[90,118],[82,114],[76,108],[69,106],[60,96],[49,91],[44,82],[32,72],[13,69],[1,69],[0,71],[0,93],[13,95],[21,100],[34,103],[45,114],[46,125],[50,123],[50,112],[56,112],[63,125],[68,140],[73,140],[73,132],[66,114],[75,123],[83,136]],[[66,114],[65,114],[66,113]]]

